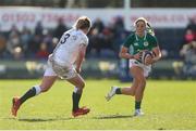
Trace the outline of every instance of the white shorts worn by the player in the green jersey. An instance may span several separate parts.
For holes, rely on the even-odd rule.
[[[145,77],[148,77],[149,73],[151,71],[151,65],[146,66],[136,60],[130,60],[130,68],[133,66],[138,66],[138,67],[143,68]]]

